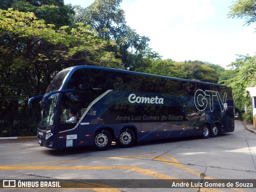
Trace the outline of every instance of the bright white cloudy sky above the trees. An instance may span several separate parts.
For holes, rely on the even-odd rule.
[[[123,0],[126,24],[162,59],[200,60],[224,68],[256,52],[256,23],[228,18],[233,0]],[[64,0],[88,7],[94,0]]]

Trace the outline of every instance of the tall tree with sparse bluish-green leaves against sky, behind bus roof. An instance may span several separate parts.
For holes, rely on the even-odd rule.
[[[122,0],[95,0],[87,8],[76,6],[76,14],[72,16],[74,22],[84,22],[92,26],[105,40],[115,40],[119,50],[117,56],[122,59],[124,67],[132,69],[132,61],[128,50],[135,50],[135,54],[148,48],[146,36],[140,36],[136,30],[126,25],[124,10],[120,9]],[[113,47],[109,48],[112,51]]]

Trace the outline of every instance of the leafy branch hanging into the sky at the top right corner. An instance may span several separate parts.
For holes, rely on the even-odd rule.
[[[236,0],[230,6],[228,17],[244,18],[245,24],[250,25],[256,21],[256,1],[255,0]]]

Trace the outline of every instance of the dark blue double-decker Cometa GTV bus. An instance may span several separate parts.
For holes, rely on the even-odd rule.
[[[60,71],[42,99],[38,142],[47,148],[216,137],[234,131],[229,86],[96,66]]]

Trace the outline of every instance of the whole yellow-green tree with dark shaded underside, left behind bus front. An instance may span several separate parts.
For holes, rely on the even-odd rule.
[[[63,68],[88,64],[122,68],[120,59],[90,26],[78,23],[69,30],[54,30],[32,12],[0,9],[0,112],[18,111],[18,102],[44,93],[57,72]],[[37,103],[38,105],[38,103]],[[35,106],[35,109],[38,108]],[[12,130],[14,116],[9,118]]]

